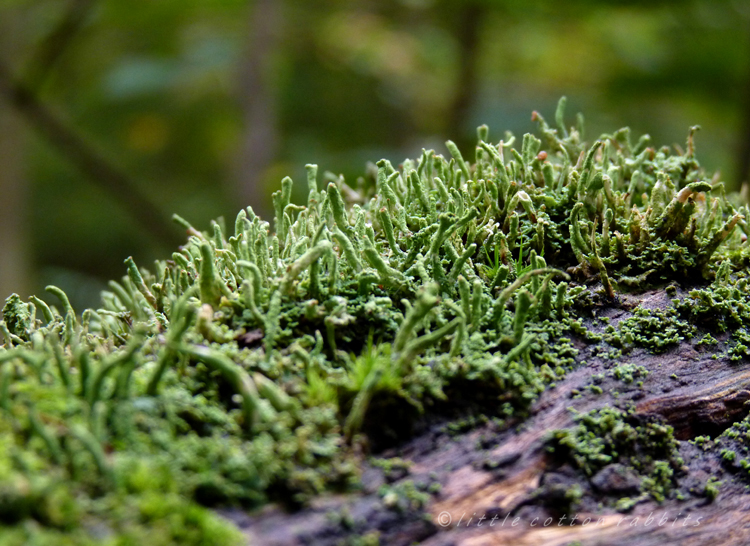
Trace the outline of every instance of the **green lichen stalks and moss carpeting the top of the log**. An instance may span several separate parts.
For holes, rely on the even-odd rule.
[[[10,296],[3,544],[237,543],[207,507],[356,489],[362,453],[453,407],[522,417],[582,365],[573,338],[660,351],[703,324],[731,329],[722,343],[746,358],[747,205],[701,169],[696,128],[684,150],[627,128],[586,142],[564,108],[520,140],[480,127],[473,162],[448,142],[353,185],[308,165],[307,201],[285,178],[272,223],[249,207],[232,230],[175,216],[185,245],[148,270],[125,260],[99,309],[54,286],[55,305]],[[699,287],[603,334],[582,324],[592,301],[670,283]],[[609,438],[624,418],[556,441],[591,474],[661,426],[584,446],[585,427]],[[657,432],[660,455],[637,470],[659,499],[676,463]]]

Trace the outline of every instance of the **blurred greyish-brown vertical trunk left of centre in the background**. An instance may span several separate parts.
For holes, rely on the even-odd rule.
[[[263,180],[278,149],[276,98],[269,64],[279,43],[281,0],[258,0],[250,14],[250,39],[240,90],[245,137],[235,195],[263,218],[270,216]]]

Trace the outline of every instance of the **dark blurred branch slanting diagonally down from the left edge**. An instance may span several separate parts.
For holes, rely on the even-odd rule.
[[[181,239],[177,237],[172,223],[140,188],[62,122],[32,89],[15,80],[8,66],[2,62],[0,96],[94,184],[116,199],[155,239],[169,247],[179,244]]]

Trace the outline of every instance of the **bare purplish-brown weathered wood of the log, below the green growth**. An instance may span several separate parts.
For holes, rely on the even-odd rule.
[[[663,292],[648,292],[621,301],[618,308],[603,313],[610,317],[611,324],[631,316],[627,309],[636,304],[666,307],[669,297]],[[743,365],[714,359],[712,350],[690,342],[659,355],[635,349],[622,361],[649,371],[642,387],[605,374],[600,384],[603,393],[595,394],[586,388],[592,384],[592,374],[604,373],[617,363],[596,356],[582,342],[579,347],[577,360],[587,363],[545,391],[525,420],[502,428],[488,423],[459,435],[433,426],[405,445],[379,454],[409,461],[408,473],[386,476],[366,466],[362,491],[356,494],[322,497],[293,513],[271,506],[259,513],[234,510],[224,514],[241,526],[250,544],[268,546],[351,544],[356,543],[355,537],[368,532],[377,532],[380,544],[388,545],[750,544],[746,482],[722,464],[718,453],[688,442],[697,435],[716,435],[748,414],[745,402],[750,399],[750,371]],[[583,395],[574,397],[575,390]],[[697,494],[661,504],[647,500],[627,513],[602,508],[601,490],[593,487],[582,472],[561,463],[545,449],[552,430],[574,425],[569,408],[586,412],[628,405],[635,408],[635,419],[663,420],[674,427],[679,454],[685,461],[679,477],[681,487],[700,492],[706,480],[716,476],[723,481],[717,498],[711,501]],[[386,507],[379,488],[385,483],[398,486],[406,480],[437,482],[442,488],[423,509],[398,511]],[[554,495],[555,484],[563,488],[577,484],[583,490],[572,525],[574,514],[564,513]],[[486,519],[478,525],[482,515]],[[566,516],[564,520],[562,516]],[[639,520],[633,525],[636,517]],[[534,518],[539,519],[532,525]],[[547,518],[553,520],[545,526]],[[591,518],[591,522],[584,525],[585,518]],[[448,519],[450,523],[445,525]]]

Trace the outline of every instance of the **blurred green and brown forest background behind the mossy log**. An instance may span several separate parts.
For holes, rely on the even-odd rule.
[[[567,95],[732,188],[750,161],[750,0],[0,0],[0,302],[98,303],[304,165],[363,174]]]

